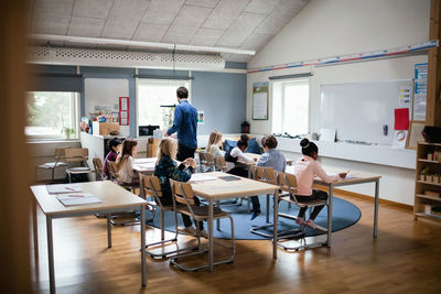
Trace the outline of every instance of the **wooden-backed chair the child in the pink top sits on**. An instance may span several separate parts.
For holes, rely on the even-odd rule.
[[[295,197],[295,192],[297,192],[297,179],[293,174],[288,174],[288,173],[279,173],[277,176],[277,184],[280,186],[282,194],[280,195],[279,199],[283,202],[288,202],[291,204],[294,204],[299,208],[302,207],[308,207],[312,208],[315,206],[320,205],[326,205],[327,206],[327,200],[316,200],[316,202],[311,202],[308,204],[303,204],[298,202]],[[327,209],[330,207],[327,206]],[[327,211],[329,213],[329,211]],[[278,214],[279,217],[297,220],[297,216],[288,215],[288,214]],[[284,241],[290,240],[290,239],[300,239],[300,246],[297,247],[288,247],[284,246]],[[279,241],[283,240],[283,241]],[[314,248],[319,246],[323,246],[323,242],[313,242],[310,244],[306,244],[306,239],[305,239],[305,230],[304,230],[304,225],[300,226],[299,228],[294,228],[288,231],[281,231],[279,232],[279,238],[277,240],[277,244],[281,248],[283,248],[287,251],[298,251],[298,250],[303,250],[303,249],[309,249],[309,248]]]

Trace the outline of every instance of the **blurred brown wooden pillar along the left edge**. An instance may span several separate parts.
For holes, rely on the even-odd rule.
[[[24,137],[26,0],[0,1],[1,293],[31,293],[30,166]]]

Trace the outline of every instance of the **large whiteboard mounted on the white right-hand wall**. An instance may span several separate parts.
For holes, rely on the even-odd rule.
[[[395,109],[409,108],[411,119],[412,90],[409,102],[400,99],[407,87],[413,89],[413,80],[321,85],[321,128],[335,129],[337,140],[391,145]]]

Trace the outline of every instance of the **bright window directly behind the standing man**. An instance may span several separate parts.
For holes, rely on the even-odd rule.
[[[178,105],[176,89],[185,87],[187,80],[146,80],[137,81],[138,126],[159,126],[161,130],[171,126],[174,108]]]

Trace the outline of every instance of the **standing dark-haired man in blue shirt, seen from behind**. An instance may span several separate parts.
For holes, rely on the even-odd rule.
[[[178,132],[176,160],[184,161],[189,157],[194,159],[197,148],[197,110],[189,102],[189,90],[185,87],[179,87],[176,96],[179,105],[174,109],[173,126],[166,131],[165,137]]]

